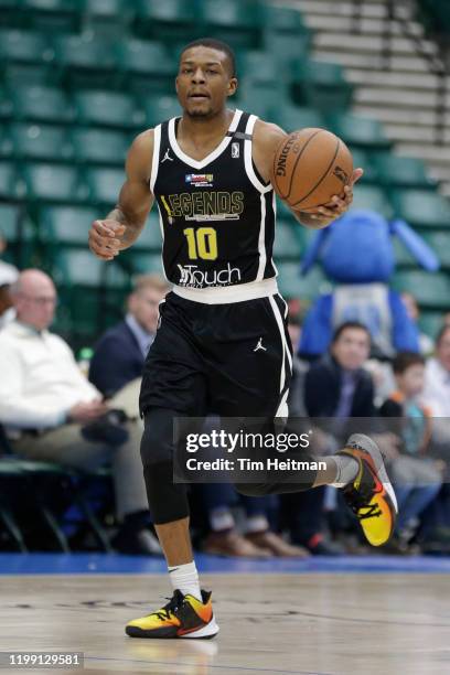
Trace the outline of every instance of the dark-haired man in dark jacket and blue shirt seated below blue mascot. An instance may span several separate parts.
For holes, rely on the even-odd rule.
[[[364,363],[371,353],[371,334],[365,325],[349,321],[339,326],[330,352],[313,363],[304,377],[304,406],[310,417],[372,417],[375,414],[374,386]],[[333,443],[333,439],[330,439]],[[330,451],[335,447],[330,447]],[[325,540],[324,504],[335,507],[335,490],[281,495],[290,521],[292,540],[314,555],[335,555]]]

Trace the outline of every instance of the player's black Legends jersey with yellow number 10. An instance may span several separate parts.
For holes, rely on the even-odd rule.
[[[150,189],[158,202],[169,281],[189,288],[269,279],[276,201],[251,160],[256,116],[236,110],[227,135],[202,161],[176,142],[179,118],[154,129]]]

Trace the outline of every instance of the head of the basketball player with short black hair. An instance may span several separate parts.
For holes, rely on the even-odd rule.
[[[224,52],[199,45],[181,55],[176,94],[190,117],[214,117],[224,109],[236,87]]]

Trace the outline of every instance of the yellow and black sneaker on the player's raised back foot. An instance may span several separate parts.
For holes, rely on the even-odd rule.
[[[367,542],[372,546],[386,544],[394,532],[398,506],[378,446],[364,433],[353,433],[338,454],[349,454],[360,464],[355,480],[342,489],[346,504],[358,518]]]

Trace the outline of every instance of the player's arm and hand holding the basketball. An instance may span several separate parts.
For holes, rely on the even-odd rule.
[[[270,180],[275,153],[280,142],[286,139],[287,136],[286,131],[277,125],[265,122],[259,119],[256,121],[254,132],[254,161],[265,181]],[[344,188],[345,196],[341,197],[340,195],[334,195],[329,204],[320,206],[314,212],[304,213],[302,211],[296,211],[289,206],[289,204],[287,204],[287,206],[302,225],[318,229],[326,227],[326,225],[330,225],[330,223],[349,208],[353,201],[353,185],[362,175],[363,170],[356,169],[353,172],[350,184]]]

